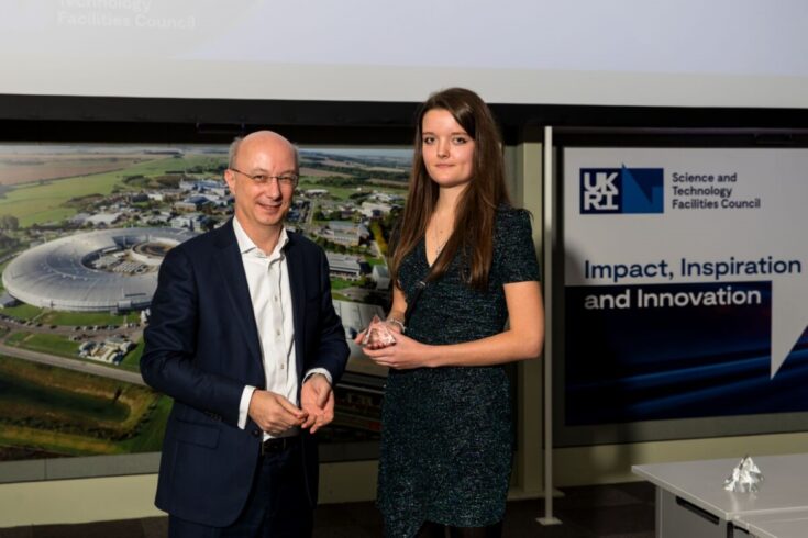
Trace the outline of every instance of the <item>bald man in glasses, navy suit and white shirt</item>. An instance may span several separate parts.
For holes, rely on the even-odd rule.
[[[155,504],[171,537],[310,536],[345,334],[325,255],[284,227],[295,147],[236,138],[224,179],[234,218],[168,253],[145,332],[143,379],[174,399]]]

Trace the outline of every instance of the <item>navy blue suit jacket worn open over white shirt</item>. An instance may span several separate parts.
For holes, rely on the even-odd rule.
[[[325,255],[289,233],[297,372],[340,379],[348,356],[331,300]],[[141,359],[143,379],[171,396],[155,504],[182,519],[228,526],[245,505],[262,431],[237,427],[244,385],[265,386],[261,343],[232,221],[173,248],[159,271]],[[298,388],[298,392],[299,392]],[[313,436],[301,434],[309,498],[317,502]],[[283,484],[278,484],[283,487]]]

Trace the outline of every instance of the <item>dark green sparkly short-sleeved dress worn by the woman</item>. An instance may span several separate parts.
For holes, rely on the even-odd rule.
[[[421,293],[407,335],[457,344],[501,333],[502,284],[539,280],[527,211],[497,212],[487,291],[464,284],[460,257]],[[402,261],[408,301],[429,271],[424,242]],[[512,458],[510,386],[502,366],[390,370],[381,413],[378,507],[388,537],[414,536],[424,520],[458,527],[505,515]]]

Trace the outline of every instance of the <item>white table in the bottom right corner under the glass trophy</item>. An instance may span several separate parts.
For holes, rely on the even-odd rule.
[[[733,536],[733,523],[742,516],[808,511],[808,453],[752,459],[764,478],[756,493],[723,489],[741,458],[633,466],[635,474],[656,486],[656,537],[727,538]],[[752,529],[744,525],[739,522],[738,527]],[[808,527],[804,527],[806,536]]]

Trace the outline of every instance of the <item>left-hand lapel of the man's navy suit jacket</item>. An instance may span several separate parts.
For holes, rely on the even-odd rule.
[[[244,273],[244,262],[239,251],[239,243],[235,240],[233,222],[229,221],[219,232],[214,244],[220,249],[221,255],[217,256],[215,259],[221,272],[221,283],[230,299],[229,306],[233,313],[233,323],[237,324],[244,333],[250,356],[257,358],[262,362],[261,339],[258,337],[258,328],[255,325],[253,301],[250,296],[247,277]],[[225,305],[222,305],[222,307],[225,307]],[[263,362],[261,368],[263,371]]]

